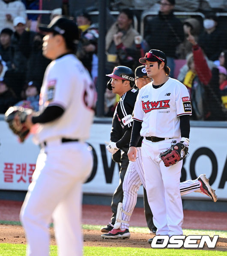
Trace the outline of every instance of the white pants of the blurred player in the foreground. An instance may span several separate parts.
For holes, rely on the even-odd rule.
[[[47,142],[45,151],[41,149],[20,214],[27,255],[49,255],[53,218],[58,254],[82,256],[81,186],[92,170],[92,161],[86,143]]]

